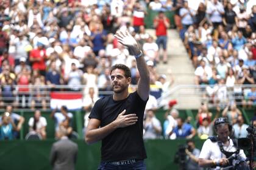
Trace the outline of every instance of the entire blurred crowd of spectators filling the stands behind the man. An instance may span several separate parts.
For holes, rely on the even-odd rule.
[[[155,36],[145,30],[147,8],[159,12],[153,25],[161,31]],[[236,137],[246,135],[241,131],[246,125],[236,104],[253,106],[256,92],[255,87],[236,85],[256,81],[254,1],[202,1],[195,10],[188,1],[181,0],[21,0],[0,2],[0,104],[8,104],[0,119],[1,139],[18,138],[24,123],[24,117],[13,113],[9,104],[34,110],[49,107],[46,93],[40,86],[59,90],[57,86],[65,84],[68,90],[75,92],[81,91],[80,85],[87,86],[83,107],[86,127],[99,91],[111,89],[111,66],[116,63],[129,66],[132,84],[136,85],[139,77],[136,61],[113,36],[118,29],[128,30],[140,42],[151,73],[151,84],[155,85],[146,106],[144,138],[176,139],[198,135],[205,139],[212,135],[215,118],[207,104],[199,108],[196,126],[190,123],[190,118],[180,117],[179,111],[173,108],[166,112],[164,124],[155,117],[156,99],[161,95],[155,89],[161,87],[161,92],[166,92],[171,84],[166,81],[166,75],[156,71],[161,48],[163,63],[167,64],[166,30],[171,25],[163,12],[169,10],[176,14],[176,27],[196,69],[196,84],[207,85],[202,90],[213,103],[220,103],[219,106],[229,103],[222,112],[217,109],[216,117],[220,114],[228,117],[234,128],[239,129],[235,131]],[[228,92],[235,97],[230,97]],[[61,126],[69,132],[69,137],[76,135],[72,127],[73,114],[65,106],[60,112],[52,110],[51,117],[55,120],[55,132]],[[40,110],[35,110],[28,124],[29,131],[47,138],[47,122]]]

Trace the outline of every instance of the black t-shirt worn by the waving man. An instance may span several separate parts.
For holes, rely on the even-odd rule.
[[[146,103],[147,101],[143,101],[137,91],[120,101],[113,100],[113,95],[96,101],[89,118],[100,120],[101,127],[114,121],[124,109],[126,109],[126,114],[137,114],[138,117],[137,123],[120,127],[102,139],[102,161],[147,157],[143,143],[143,116]]]

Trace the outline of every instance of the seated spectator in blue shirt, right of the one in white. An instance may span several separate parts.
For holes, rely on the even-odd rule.
[[[177,126],[172,130],[170,135],[174,133],[177,138],[193,138],[196,135],[196,130],[191,124],[185,123],[183,118],[177,118]]]

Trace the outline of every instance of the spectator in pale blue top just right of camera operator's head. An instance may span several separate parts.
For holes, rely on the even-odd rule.
[[[235,138],[246,138],[248,132],[246,131],[248,125],[244,124],[244,118],[242,115],[237,117],[236,123],[233,125]]]

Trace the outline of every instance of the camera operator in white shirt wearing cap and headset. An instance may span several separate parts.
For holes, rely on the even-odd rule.
[[[202,146],[199,155],[199,166],[220,169],[230,165],[229,157],[238,154],[245,159],[243,150],[238,150],[236,142],[229,137],[232,125],[224,117],[217,118],[215,123],[216,137],[209,137]]]

